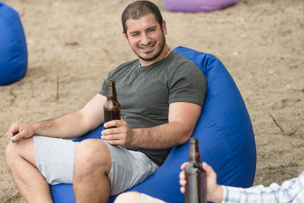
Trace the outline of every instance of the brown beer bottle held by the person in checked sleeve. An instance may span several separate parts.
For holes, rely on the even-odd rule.
[[[190,138],[189,164],[186,166],[186,200],[185,203],[207,203],[206,177],[202,168],[199,141]]]

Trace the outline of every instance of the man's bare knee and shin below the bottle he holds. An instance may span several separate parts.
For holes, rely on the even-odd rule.
[[[111,153],[101,140],[87,139],[76,148],[73,188],[77,203],[106,203],[110,194],[107,178]]]

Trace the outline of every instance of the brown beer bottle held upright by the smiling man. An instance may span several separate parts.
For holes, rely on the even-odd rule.
[[[117,101],[115,81],[109,80],[107,101],[105,101],[103,105],[103,123],[116,119],[120,120],[120,104]],[[114,128],[114,127],[110,127],[110,128]]]

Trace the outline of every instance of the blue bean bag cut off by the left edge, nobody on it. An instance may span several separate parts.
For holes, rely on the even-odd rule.
[[[18,13],[0,2],[0,85],[21,79],[28,65],[23,27]]]

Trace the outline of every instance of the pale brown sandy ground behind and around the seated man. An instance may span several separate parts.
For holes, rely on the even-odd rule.
[[[167,21],[170,48],[214,54],[236,81],[256,140],[254,185],[297,176],[304,169],[304,1],[239,0],[195,14],[172,13],[162,0],[152,1]],[[111,69],[136,58],[120,22],[132,0],[4,2],[20,14],[29,65],[23,79],[0,86],[0,203],[22,203],[5,164],[6,131],[15,121],[82,108]]]

